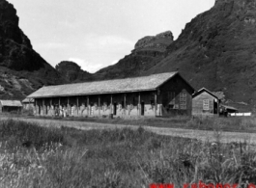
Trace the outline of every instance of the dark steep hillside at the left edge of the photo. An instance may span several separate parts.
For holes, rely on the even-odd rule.
[[[0,98],[22,99],[43,85],[63,83],[18,27],[14,6],[0,0]]]

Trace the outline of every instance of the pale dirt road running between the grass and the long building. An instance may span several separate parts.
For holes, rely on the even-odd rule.
[[[0,117],[0,120],[7,120],[8,118]],[[122,128],[129,127],[136,129],[138,126],[133,125],[123,125],[123,124],[109,124],[109,123],[99,123],[99,122],[87,122],[87,121],[56,121],[56,120],[37,120],[37,119],[24,119],[24,118],[12,118],[19,121],[29,121],[36,122],[42,126],[68,126],[73,128],[78,128],[82,130],[90,129],[104,129],[104,128]],[[185,138],[196,138],[203,141],[214,142],[216,139],[216,132],[205,131],[205,130],[192,130],[192,129],[182,129],[182,128],[161,128],[152,126],[143,126],[146,130],[155,132],[159,135],[168,136],[179,136]],[[256,133],[239,133],[239,132],[220,132],[220,141],[222,143],[230,142],[248,142],[256,144]]]

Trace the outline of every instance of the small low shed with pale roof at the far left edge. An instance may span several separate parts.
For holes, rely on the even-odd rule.
[[[0,113],[20,112],[22,104],[19,100],[0,100]]]

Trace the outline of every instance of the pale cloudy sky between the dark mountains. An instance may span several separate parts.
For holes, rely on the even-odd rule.
[[[52,67],[72,61],[91,73],[123,59],[145,36],[171,31],[214,0],[7,0],[33,48]]]

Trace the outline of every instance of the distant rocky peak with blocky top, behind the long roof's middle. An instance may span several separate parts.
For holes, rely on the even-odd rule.
[[[91,76],[91,80],[124,78],[142,75],[155,67],[162,59],[164,52],[173,42],[173,34],[166,31],[156,36],[147,36],[135,43],[134,49],[116,65],[104,67]]]

